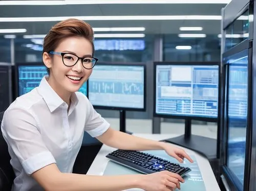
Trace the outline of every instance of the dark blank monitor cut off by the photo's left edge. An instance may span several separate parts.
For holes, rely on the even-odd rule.
[[[0,63],[0,113],[12,102],[11,64]]]

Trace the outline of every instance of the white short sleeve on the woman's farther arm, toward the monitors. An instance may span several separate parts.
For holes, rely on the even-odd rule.
[[[97,137],[102,135],[108,128],[110,124],[104,120],[103,117],[95,109],[92,104],[89,102],[88,115],[86,117],[86,125],[84,130],[87,131],[92,137]]]

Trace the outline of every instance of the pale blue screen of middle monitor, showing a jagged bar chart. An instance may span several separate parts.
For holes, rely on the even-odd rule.
[[[143,65],[96,65],[89,78],[89,100],[97,107],[144,109]]]

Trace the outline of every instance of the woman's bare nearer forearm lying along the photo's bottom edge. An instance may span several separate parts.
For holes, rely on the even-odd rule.
[[[48,191],[115,191],[130,188],[140,188],[140,179],[143,175],[123,176],[90,176],[70,173],[61,173],[54,179]]]

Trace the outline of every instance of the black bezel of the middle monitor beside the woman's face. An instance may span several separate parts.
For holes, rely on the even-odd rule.
[[[144,68],[144,94],[143,94],[143,108],[131,108],[131,107],[115,107],[115,106],[99,106],[93,105],[95,109],[105,109],[105,110],[123,110],[123,111],[146,111],[146,63],[143,62],[97,62],[97,65],[114,65],[114,66],[143,66]],[[88,79],[90,85],[90,78]],[[89,87],[89,86],[88,86]],[[88,89],[89,92],[89,89]],[[90,93],[90,92],[89,92]],[[90,96],[88,93],[88,99],[90,101]]]

